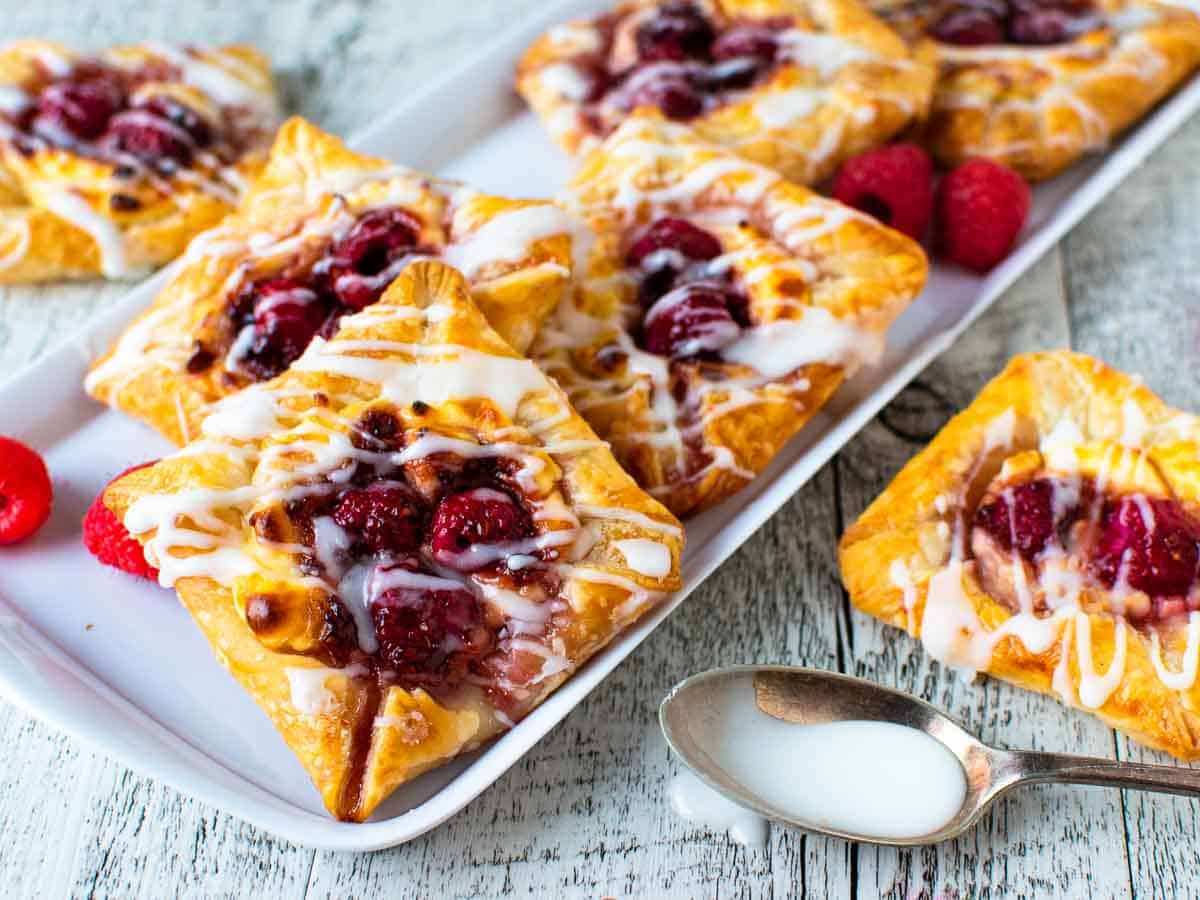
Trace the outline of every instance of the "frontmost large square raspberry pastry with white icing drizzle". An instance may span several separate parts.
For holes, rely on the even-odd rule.
[[[679,587],[678,521],[439,262],[106,503],[344,820]]]

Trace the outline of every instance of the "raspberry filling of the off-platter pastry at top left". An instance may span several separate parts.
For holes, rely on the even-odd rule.
[[[162,65],[124,70],[84,60],[66,74],[43,70],[24,102],[5,113],[11,139],[23,152],[64,148],[116,163],[119,174],[145,167],[170,174],[206,151],[220,162],[235,158],[239,142],[224,122],[166,95],[138,96],[151,82],[179,78]]]

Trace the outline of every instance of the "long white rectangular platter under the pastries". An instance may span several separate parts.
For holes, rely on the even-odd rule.
[[[352,143],[498,193],[553,196],[571,163],[512,95],[512,68],[545,26],[601,6],[547,4]],[[328,816],[299,762],[172,595],[102,569],[82,546],[79,522],[108,479],[169,450],[143,426],[90,401],[80,386],[88,362],[149,304],[166,277],[160,275],[0,386],[0,433],[42,452],[56,490],[53,517],[36,539],[0,548],[0,690],[131,768],[288,840],[334,850],[407,841],[452,816],[521,758],[1198,106],[1200,80],[1104,157],[1038,187],[1021,246],[986,278],[935,268],[924,294],[889,334],[882,362],[844,385],[754,485],[688,523],[683,590],[511,732],[406,786],[364,824]]]

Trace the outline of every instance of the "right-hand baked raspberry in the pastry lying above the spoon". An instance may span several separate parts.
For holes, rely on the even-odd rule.
[[[1195,583],[1200,564],[1200,522],[1178,503],[1144,496],[1109,499],[1091,569],[1112,587],[1124,582],[1151,596],[1182,596]]]

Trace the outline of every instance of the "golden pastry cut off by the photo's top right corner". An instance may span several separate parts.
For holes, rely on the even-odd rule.
[[[1154,0],[870,5],[914,46],[935,47],[934,156],[984,156],[1030,181],[1104,149],[1200,64],[1200,18]]]

